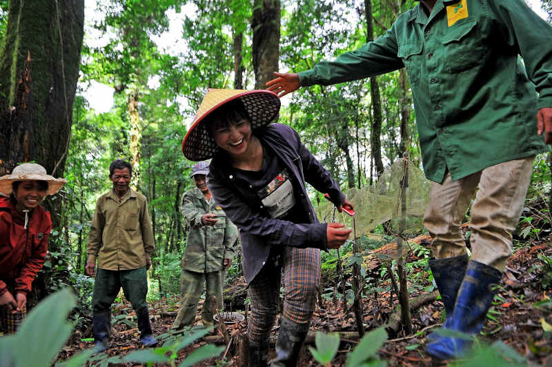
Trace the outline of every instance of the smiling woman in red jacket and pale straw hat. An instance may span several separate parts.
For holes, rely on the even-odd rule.
[[[41,205],[66,179],[46,175],[35,163],[23,163],[0,177],[0,331],[14,333],[26,317],[27,293],[44,264],[52,229]]]

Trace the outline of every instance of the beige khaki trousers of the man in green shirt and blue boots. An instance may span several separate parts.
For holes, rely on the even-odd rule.
[[[512,232],[522,212],[535,157],[495,164],[457,181],[447,172],[433,183],[424,226],[433,237],[435,259],[467,252],[460,225],[471,206],[471,259],[504,271],[512,253]]]

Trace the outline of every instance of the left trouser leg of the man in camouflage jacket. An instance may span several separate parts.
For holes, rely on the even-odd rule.
[[[197,303],[203,292],[205,275],[203,272],[182,270],[180,276],[180,309],[172,328],[181,329],[195,321]]]

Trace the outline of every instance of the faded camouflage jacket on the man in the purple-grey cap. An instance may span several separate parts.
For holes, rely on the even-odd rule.
[[[213,197],[209,202],[198,188],[182,195],[182,215],[190,225],[182,268],[193,272],[213,272],[224,268],[223,259],[234,257],[237,227],[226,217]],[[215,226],[205,226],[201,217],[207,213],[217,215]]]

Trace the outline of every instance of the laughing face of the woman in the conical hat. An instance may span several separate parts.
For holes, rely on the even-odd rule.
[[[245,118],[230,123],[215,121],[211,128],[217,146],[233,156],[247,152],[251,143],[251,131],[251,123]]]

